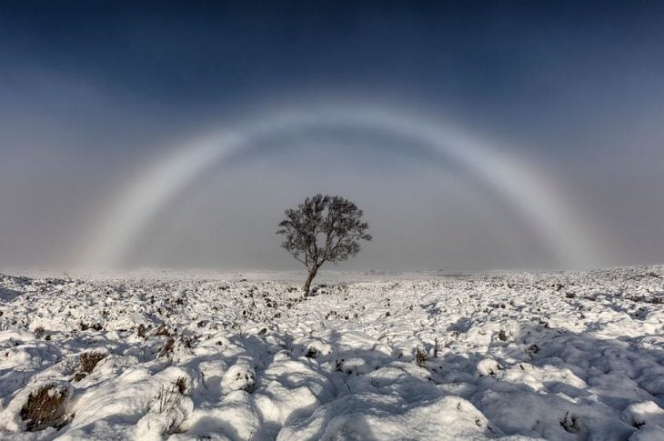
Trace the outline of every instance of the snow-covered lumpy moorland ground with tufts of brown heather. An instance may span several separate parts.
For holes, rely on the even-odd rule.
[[[320,281],[0,275],[0,437],[664,439],[662,266]]]

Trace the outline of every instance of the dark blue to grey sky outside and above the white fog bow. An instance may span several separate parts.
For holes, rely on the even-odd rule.
[[[166,140],[350,96],[518,145],[627,249],[611,262],[664,260],[663,75],[657,1],[2,1],[0,246],[30,261],[16,237],[65,231]]]

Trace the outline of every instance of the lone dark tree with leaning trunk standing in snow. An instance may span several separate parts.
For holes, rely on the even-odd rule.
[[[307,197],[297,209],[285,211],[277,235],[286,236],[281,244],[293,257],[307,266],[303,290],[309,294],[311,281],[325,262],[337,263],[359,253],[359,240],[371,240],[362,210],[341,196],[317,194]]]

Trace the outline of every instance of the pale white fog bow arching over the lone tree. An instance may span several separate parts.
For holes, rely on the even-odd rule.
[[[455,127],[421,115],[358,105],[324,109],[280,110],[258,115],[233,129],[221,129],[185,143],[129,183],[115,204],[93,226],[78,259],[79,267],[113,268],[126,256],[154,216],[196,176],[247,148],[252,141],[284,132],[347,126],[375,130],[430,145],[452,158],[466,173],[489,185],[533,228],[561,267],[585,268],[599,261],[588,229],[555,185],[546,182],[522,158],[508,155]]]

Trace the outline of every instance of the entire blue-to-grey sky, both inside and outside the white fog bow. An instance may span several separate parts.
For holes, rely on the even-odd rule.
[[[160,158],[333,102],[428,115],[523,159],[588,226],[590,266],[662,263],[663,77],[657,1],[0,1],[0,267],[80,264]],[[412,139],[332,127],[249,147],[173,195],[123,265],[297,268],[274,232],[320,191],[356,201],[375,237],[339,268],[561,267]]]

